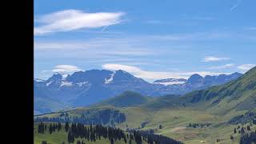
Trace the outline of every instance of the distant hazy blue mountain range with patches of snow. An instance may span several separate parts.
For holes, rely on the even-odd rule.
[[[34,105],[38,113],[45,113],[66,106],[88,106],[126,90],[147,96],[186,94],[192,90],[230,82],[241,75],[234,73],[202,78],[194,74],[188,80],[168,78],[150,83],[123,70],[86,70],[66,78],[54,74],[47,80],[34,79]],[[57,107],[46,109],[53,102]]]

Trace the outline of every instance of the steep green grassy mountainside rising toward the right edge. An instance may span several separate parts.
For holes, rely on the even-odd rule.
[[[235,73],[236,74],[236,73]],[[198,77],[198,76],[196,76]],[[229,78],[234,78],[234,74]],[[202,79],[199,78],[198,79]],[[216,79],[226,79],[223,75]],[[219,82],[219,81],[218,81]],[[231,110],[256,110],[256,67],[234,81],[204,90],[194,90],[181,97],[162,96],[150,102],[148,107],[167,106],[196,107],[201,110],[213,109],[215,113],[225,114]]]

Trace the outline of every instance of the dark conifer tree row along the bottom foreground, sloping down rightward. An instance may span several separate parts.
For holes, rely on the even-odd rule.
[[[52,126],[52,132],[49,131],[50,134],[54,133],[56,130],[59,131],[62,129],[60,123],[50,123],[49,126]],[[46,124],[40,122],[38,124],[38,131],[42,129],[46,130]],[[136,142],[136,144],[142,144],[143,141],[148,144],[182,144],[182,142],[178,142],[172,138],[158,134],[150,134],[146,131],[133,130],[125,134],[123,130],[111,126],[93,126],[91,124],[90,126],[85,126],[82,123],[66,122],[64,130],[67,133],[67,142],[69,143],[74,143],[76,138],[82,138],[82,142],[77,141],[77,144],[84,144],[86,141],[96,142],[102,138],[109,139],[110,144],[114,144],[115,141],[123,141],[129,144],[131,144],[132,141]],[[40,133],[43,134],[41,131]],[[83,140],[85,140],[85,142]]]

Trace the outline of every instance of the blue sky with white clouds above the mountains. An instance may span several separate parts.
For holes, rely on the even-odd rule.
[[[255,0],[35,0],[34,78],[125,70],[152,82],[256,66]]]

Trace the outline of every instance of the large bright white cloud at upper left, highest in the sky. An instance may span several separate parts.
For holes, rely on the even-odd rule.
[[[43,25],[34,28],[34,35],[110,26],[122,22],[123,14],[122,12],[86,13],[82,10],[62,10],[37,18],[35,22]]]

